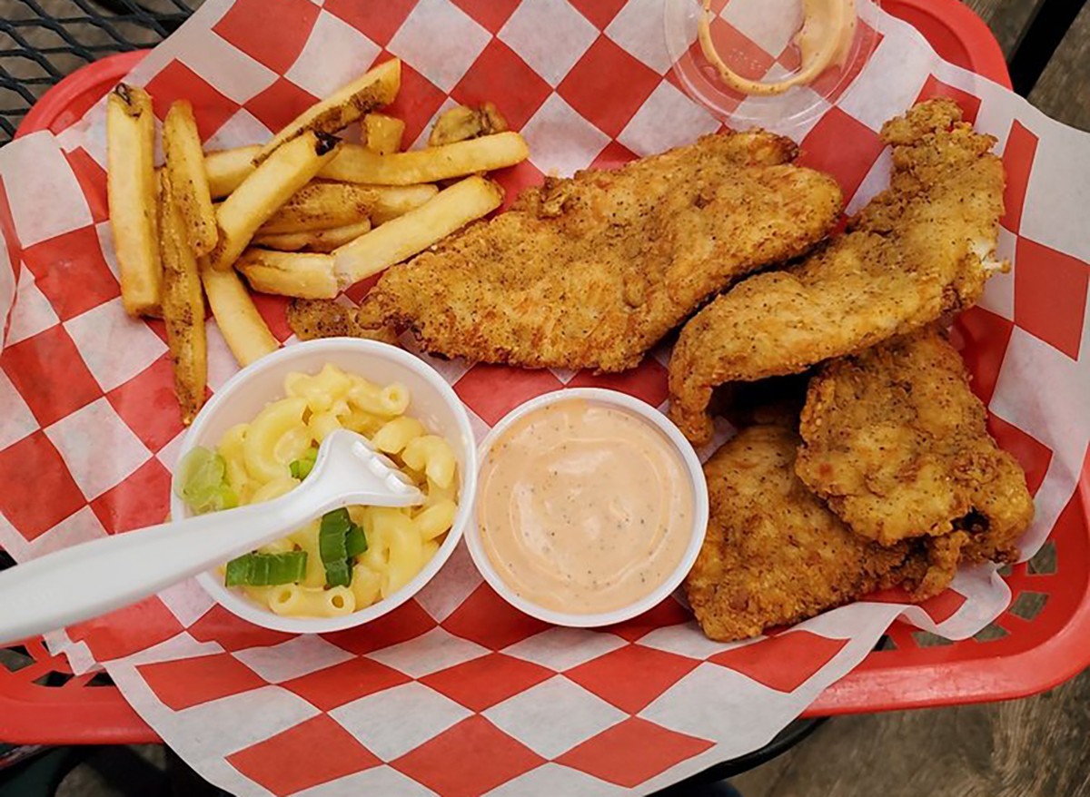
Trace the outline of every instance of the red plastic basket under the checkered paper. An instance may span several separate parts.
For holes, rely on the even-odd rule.
[[[986,25],[958,0],[884,0],[936,51],[1009,87],[1006,63]],[[17,135],[58,133],[102,97],[144,56],[104,59],[69,76],[27,113]],[[1010,608],[977,638],[949,642],[896,623],[887,645],[828,688],[810,715],[885,711],[1024,697],[1071,677],[1090,663],[1090,535],[1083,496],[1064,513],[1032,561],[1013,568]],[[1065,518],[1067,520],[1065,522]],[[158,737],[101,676],[73,677],[63,657],[40,640],[16,669],[0,665],[5,741],[121,744]],[[101,682],[101,683],[100,683]]]

